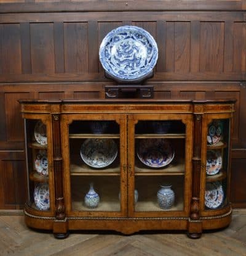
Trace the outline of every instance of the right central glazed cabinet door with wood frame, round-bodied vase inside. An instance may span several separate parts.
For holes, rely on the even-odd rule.
[[[188,217],[192,115],[132,115],[129,152],[129,214]]]

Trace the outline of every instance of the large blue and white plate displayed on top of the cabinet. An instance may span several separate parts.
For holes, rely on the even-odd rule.
[[[132,81],[146,78],[158,59],[156,41],[148,31],[135,26],[118,27],[100,45],[100,62],[113,78]]]

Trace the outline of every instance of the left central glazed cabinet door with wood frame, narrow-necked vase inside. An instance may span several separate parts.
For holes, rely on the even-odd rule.
[[[125,116],[62,115],[68,216],[125,215]]]

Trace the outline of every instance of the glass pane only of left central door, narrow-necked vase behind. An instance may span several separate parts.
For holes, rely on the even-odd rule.
[[[115,121],[69,125],[73,211],[121,212],[120,127]]]

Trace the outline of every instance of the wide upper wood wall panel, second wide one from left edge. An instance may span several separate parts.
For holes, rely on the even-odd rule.
[[[54,27],[52,23],[31,23],[33,73],[55,73]]]

